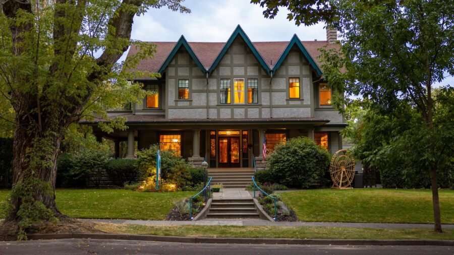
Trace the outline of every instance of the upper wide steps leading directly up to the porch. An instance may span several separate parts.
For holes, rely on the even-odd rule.
[[[225,188],[248,186],[254,173],[254,168],[208,168],[211,184],[222,183]]]

